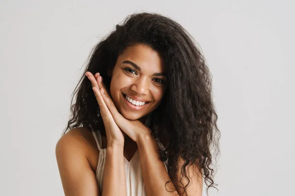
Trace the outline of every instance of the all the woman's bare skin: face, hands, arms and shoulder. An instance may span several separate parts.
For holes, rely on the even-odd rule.
[[[141,71],[128,63],[123,63],[126,60],[140,66]],[[95,179],[99,150],[92,133],[85,128],[76,128],[60,138],[56,147],[65,195],[126,195],[123,158],[132,152],[130,147],[132,148],[133,144],[130,141],[139,148],[140,164],[148,196],[178,195],[180,190],[177,190],[178,193],[169,193],[165,189],[165,182],[170,177],[157,152],[157,142],[150,136],[149,128],[144,125],[146,116],[160,104],[165,93],[165,76],[153,74],[164,72],[163,61],[156,51],[145,45],[136,45],[125,49],[123,54],[118,56],[114,69],[109,71],[112,75],[110,95],[99,73],[95,75],[86,73],[100,106],[107,133],[107,138],[102,141],[103,148],[107,148],[103,176],[104,191],[101,193]],[[163,80],[164,84],[159,82],[160,80]],[[148,105],[140,111],[134,111],[127,107],[122,93],[146,99]],[[133,154],[134,152],[132,156]],[[187,172],[191,171],[193,168]],[[202,176],[198,178],[195,175],[191,178],[191,183],[188,195],[201,196]]]

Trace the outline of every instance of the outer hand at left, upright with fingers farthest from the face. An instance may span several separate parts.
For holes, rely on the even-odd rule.
[[[89,80],[91,81],[92,89],[94,91],[95,98],[98,102],[99,108],[100,108],[100,115],[102,117],[105,130],[106,130],[106,135],[107,135],[107,140],[108,140],[108,147],[111,145],[120,145],[124,146],[124,133],[122,130],[118,127],[116,122],[114,121],[114,118],[108,109],[108,106],[106,105],[104,99],[101,96],[101,91],[98,83],[101,82],[99,81],[99,73],[96,73],[96,77],[93,76],[92,73],[86,72],[85,74],[88,76]]]

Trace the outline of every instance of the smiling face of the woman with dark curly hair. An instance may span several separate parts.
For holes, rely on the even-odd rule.
[[[143,44],[130,46],[109,75],[111,97],[125,118],[142,120],[160,105],[167,79],[157,51]]]

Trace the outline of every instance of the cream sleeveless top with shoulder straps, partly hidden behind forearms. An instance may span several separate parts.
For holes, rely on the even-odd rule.
[[[150,124],[150,119],[146,121],[145,125],[148,126]],[[93,131],[93,136],[96,140],[97,147],[99,149],[99,158],[98,164],[95,172],[96,180],[98,182],[99,188],[102,190],[103,187],[103,172],[105,166],[105,158],[106,158],[106,148],[102,148],[101,142],[101,134],[99,130]],[[161,142],[157,139],[158,145],[161,149],[165,149],[165,147],[161,144]],[[167,170],[167,162],[165,162],[165,167]],[[125,175],[126,175],[126,186],[127,186],[127,196],[147,196],[144,179],[142,176],[141,168],[140,168],[140,160],[139,160],[139,151],[138,148],[131,158],[130,162],[124,157],[124,166],[125,166]]]

